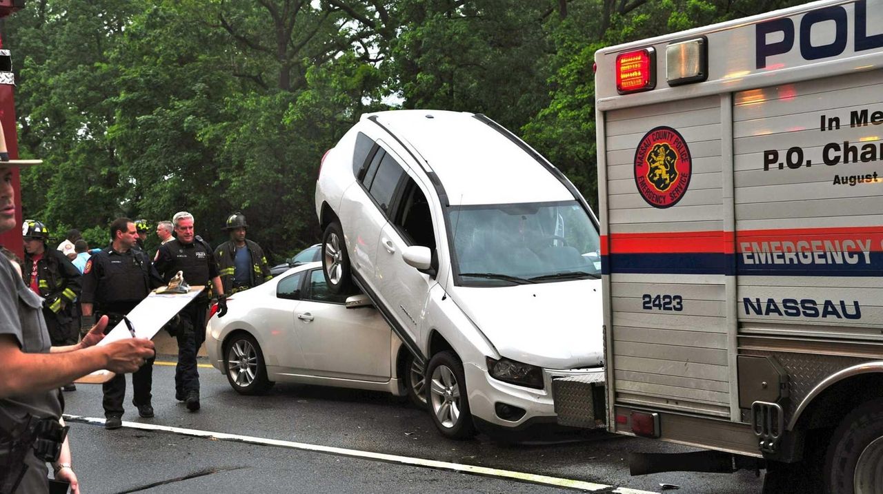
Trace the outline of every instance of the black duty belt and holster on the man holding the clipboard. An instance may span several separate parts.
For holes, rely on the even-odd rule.
[[[11,494],[27,472],[26,455],[34,455],[42,461],[56,461],[67,436],[68,427],[54,418],[37,418],[27,414],[11,424],[0,425],[0,449],[9,453],[4,465],[0,465],[0,494]]]

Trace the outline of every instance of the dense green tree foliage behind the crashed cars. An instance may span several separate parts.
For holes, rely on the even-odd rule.
[[[321,155],[382,109],[484,113],[592,204],[594,52],[786,0],[29,0],[7,20],[25,214],[100,232],[230,213],[276,257],[314,243]],[[95,240],[98,242],[99,240]]]

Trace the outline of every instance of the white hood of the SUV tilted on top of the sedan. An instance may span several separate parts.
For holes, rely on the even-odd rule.
[[[600,280],[453,287],[449,295],[501,356],[546,369],[602,362]]]

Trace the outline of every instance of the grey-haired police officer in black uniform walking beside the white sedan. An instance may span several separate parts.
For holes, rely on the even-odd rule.
[[[178,271],[184,273],[184,280],[191,286],[208,285],[211,281],[218,297],[218,317],[222,317],[227,313],[227,299],[211,246],[194,235],[191,213],[176,213],[172,224],[177,238],[160,245],[156,270],[164,281],[169,281]],[[196,368],[196,353],[206,339],[208,302],[208,293],[203,291],[178,312],[180,320],[175,328],[175,398],[185,401],[187,409],[192,412],[200,409],[200,375]]]

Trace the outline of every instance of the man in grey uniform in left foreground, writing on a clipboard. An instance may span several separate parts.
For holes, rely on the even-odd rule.
[[[16,227],[12,172],[23,166],[4,161],[2,154],[0,233]],[[48,492],[47,461],[56,462],[57,479],[72,485],[77,482],[70,456],[59,456],[58,445],[64,443],[65,434],[58,423],[62,413],[58,386],[99,369],[135,371],[154,353],[153,342],[143,338],[93,346],[102,338],[106,319],[77,345],[50,348],[41,307],[40,297],[26,288],[11,262],[0,256],[0,363],[4,373],[0,379],[0,491],[4,494]]]

